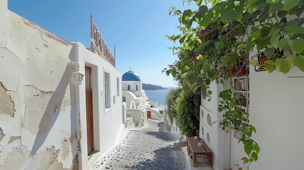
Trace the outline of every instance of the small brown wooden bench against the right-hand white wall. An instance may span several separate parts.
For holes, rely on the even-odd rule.
[[[202,147],[198,146],[198,143],[202,143]],[[190,156],[193,167],[197,167],[196,165],[196,156],[197,155],[204,155],[207,158],[208,166],[212,167],[212,151],[209,149],[209,147],[206,145],[206,143],[203,141],[203,139],[197,139],[195,140],[194,137],[187,137],[186,138],[186,146],[188,155]]]

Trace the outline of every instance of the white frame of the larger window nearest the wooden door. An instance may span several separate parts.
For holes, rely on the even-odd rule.
[[[105,69],[103,70],[103,96],[104,96],[104,110],[111,108],[111,75],[110,71]]]

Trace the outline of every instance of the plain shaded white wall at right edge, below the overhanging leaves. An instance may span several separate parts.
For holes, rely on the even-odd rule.
[[[251,169],[303,169],[304,72],[269,74],[254,72],[253,66],[250,71],[250,123],[261,149]]]

